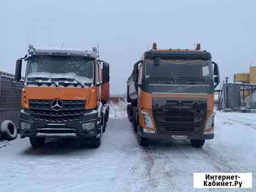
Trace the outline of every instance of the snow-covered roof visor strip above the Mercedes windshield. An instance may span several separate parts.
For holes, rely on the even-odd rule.
[[[28,46],[27,52],[31,55],[58,55],[58,56],[81,56],[81,57],[97,57],[97,50],[82,49],[82,48],[33,48],[32,45]]]

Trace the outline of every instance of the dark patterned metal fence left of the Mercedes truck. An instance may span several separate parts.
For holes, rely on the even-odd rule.
[[[11,120],[18,126],[21,110],[23,82],[14,80],[14,75],[0,71],[0,123]]]

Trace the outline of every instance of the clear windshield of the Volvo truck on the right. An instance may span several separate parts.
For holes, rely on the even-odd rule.
[[[211,60],[145,59],[145,78],[169,78],[175,84],[213,84]]]

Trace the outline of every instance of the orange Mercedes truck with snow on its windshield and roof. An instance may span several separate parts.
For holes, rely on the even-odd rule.
[[[101,144],[109,107],[109,64],[97,49],[33,48],[16,61],[15,79],[21,80],[22,59],[27,61],[21,94],[19,133],[33,147],[46,138],[88,138]]]

